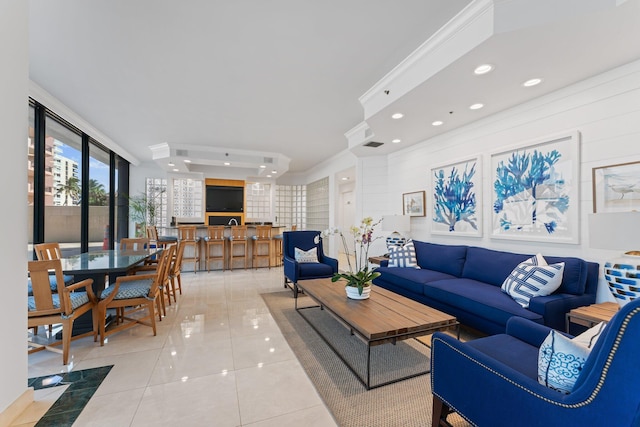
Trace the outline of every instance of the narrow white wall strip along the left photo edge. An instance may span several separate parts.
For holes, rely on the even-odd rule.
[[[11,208],[2,213],[2,364],[0,425],[10,417],[5,410],[27,391],[27,175],[29,38],[26,1],[0,0],[0,129],[6,147],[0,181],[2,200]],[[16,250],[16,248],[18,250]],[[20,250],[22,248],[22,250]]]

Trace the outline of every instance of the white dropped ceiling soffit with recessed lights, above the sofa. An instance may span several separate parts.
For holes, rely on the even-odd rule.
[[[640,0],[474,1],[360,97],[349,149],[388,154],[632,62],[638,22]],[[474,75],[485,63],[494,70]],[[523,87],[533,77],[543,83]]]

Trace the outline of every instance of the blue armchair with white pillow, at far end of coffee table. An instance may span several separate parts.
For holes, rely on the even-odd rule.
[[[308,251],[317,248],[318,262],[297,262],[295,248]],[[321,279],[331,277],[338,272],[338,260],[326,256],[322,250],[322,237],[319,231],[285,231],[282,233],[284,262],[284,287],[293,291],[297,297],[298,280]]]

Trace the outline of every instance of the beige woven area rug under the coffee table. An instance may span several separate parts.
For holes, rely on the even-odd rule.
[[[262,294],[271,315],[289,346],[314,384],[338,425],[361,426],[430,426],[431,384],[428,374],[368,390],[335,352],[295,311],[291,292]],[[300,295],[300,306],[313,305],[311,298]],[[305,317],[320,328],[358,372],[366,369],[366,345],[349,334],[328,312],[303,310]],[[372,383],[428,369],[429,349],[415,340],[372,348]],[[295,397],[292,396],[293,399]],[[456,427],[469,424],[455,414],[448,421]]]

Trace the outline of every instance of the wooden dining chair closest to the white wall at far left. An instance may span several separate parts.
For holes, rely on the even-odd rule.
[[[93,293],[93,280],[85,279],[65,286],[62,278],[62,264],[59,259],[36,260],[28,263],[33,295],[27,298],[27,326],[35,328],[43,325],[62,324],[62,363],[69,363],[73,322],[84,313],[95,308],[97,298]],[[51,291],[49,276],[55,275],[58,292]],[[93,331],[97,330],[97,310],[93,310]],[[78,338],[82,335],[77,335]],[[54,344],[55,345],[55,344]],[[33,353],[42,349],[58,351],[50,345],[29,343]]]

